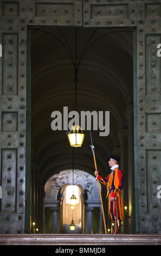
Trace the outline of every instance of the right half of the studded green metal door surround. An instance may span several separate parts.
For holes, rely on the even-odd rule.
[[[146,2],[146,3],[145,3]],[[160,234],[160,3],[83,1],[83,26],[136,28],[134,52],[134,145],[136,231]],[[134,35],[135,36],[135,35]]]

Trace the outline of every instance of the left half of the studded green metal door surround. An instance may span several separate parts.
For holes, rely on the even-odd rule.
[[[27,29],[28,26],[82,26],[82,1],[1,1],[1,212],[0,233],[24,233],[30,228],[30,176],[26,161],[27,113]],[[30,81],[28,79],[28,86]],[[29,108],[28,108],[29,109]],[[30,138],[29,138],[30,139]],[[30,143],[28,143],[30,144]],[[26,197],[25,197],[26,195]],[[28,198],[25,204],[25,198]]]

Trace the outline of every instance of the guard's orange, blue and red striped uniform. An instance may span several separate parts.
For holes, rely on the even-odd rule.
[[[124,175],[119,168],[112,170],[110,175],[107,178],[102,178],[98,175],[96,180],[104,184],[107,187],[107,197],[108,197],[108,214],[112,222],[114,222],[114,230],[112,234],[118,234],[119,226],[117,223],[117,212],[115,209],[115,200],[111,201],[110,198],[117,196],[117,209],[118,209],[118,219],[119,222],[123,221],[124,218],[124,209],[123,209],[123,199],[121,195],[121,190],[124,187]]]

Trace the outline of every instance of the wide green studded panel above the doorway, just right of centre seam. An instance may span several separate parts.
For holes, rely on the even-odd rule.
[[[133,27],[137,25],[136,3],[131,1],[83,1],[83,27]]]

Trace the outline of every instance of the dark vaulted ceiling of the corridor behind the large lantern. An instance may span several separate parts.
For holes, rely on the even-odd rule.
[[[75,59],[76,29],[33,28],[31,148],[35,171],[44,185],[50,176],[72,168],[73,151],[66,131],[51,130],[51,113],[63,113],[64,106],[70,112],[75,104],[74,67],[64,45],[68,41]],[[110,135],[101,137],[99,131],[92,131],[97,166],[104,175],[108,172],[108,155],[113,153],[114,148],[120,147],[118,133],[127,127],[126,108],[133,103],[133,33],[126,28],[122,32],[121,29],[116,31],[118,29],[77,28],[77,63],[92,34],[95,32],[89,45],[100,38],[89,47],[81,61],[77,103],[79,112],[110,111]],[[86,131],[82,147],[74,149],[74,168],[93,174],[90,145],[91,138],[89,131]]]

